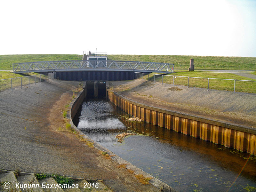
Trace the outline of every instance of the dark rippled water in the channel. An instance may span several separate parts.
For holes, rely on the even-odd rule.
[[[77,127],[178,191],[256,191],[255,156],[247,161],[246,153],[152,124],[129,122],[128,117],[107,100],[88,100]],[[115,136],[122,132],[138,135],[119,143]]]

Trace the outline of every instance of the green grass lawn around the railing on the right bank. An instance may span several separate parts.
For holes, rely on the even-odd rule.
[[[177,72],[175,76],[190,76],[190,77],[206,77],[206,78],[219,78],[219,79],[240,79],[240,80],[252,80],[255,79],[238,76],[231,73],[210,73],[210,72]],[[148,79],[148,76],[144,76]],[[149,80],[154,81],[154,75],[149,75]],[[162,76],[155,76],[155,81],[162,82]],[[163,83],[173,84],[173,77],[163,76]],[[187,77],[176,77],[174,78],[174,85],[188,85]],[[203,87],[207,88],[208,79],[189,78],[189,87]],[[209,88],[216,90],[234,91],[234,81],[232,80],[209,80]],[[243,82],[236,81],[236,92],[249,92],[256,93],[256,82]]]

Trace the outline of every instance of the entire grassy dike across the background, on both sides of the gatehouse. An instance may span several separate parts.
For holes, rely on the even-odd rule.
[[[69,54],[0,55],[0,70],[12,69],[12,64],[19,62],[46,60],[82,60],[82,57],[82,55]],[[256,70],[256,57],[215,57],[191,55],[108,55],[108,60],[173,63],[174,69],[188,69],[190,58],[194,59],[195,69]]]

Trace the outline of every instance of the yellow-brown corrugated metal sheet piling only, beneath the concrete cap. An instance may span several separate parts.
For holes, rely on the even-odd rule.
[[[211,141],[239,151],[251,153],[253,155],[256,154],[255,134],[139,107],[123,100],[121,97],[116,96],[113,92],[109,91],[108,99],[128,114],[138,117],[148,123],[165,127],[176,132],[182,132],[186,135]]]

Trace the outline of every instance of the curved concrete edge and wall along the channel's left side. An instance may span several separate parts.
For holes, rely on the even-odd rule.
[[[90,139],[86,134],[84,134],[83,132],[81,132],[76,125],[73,123],[73,119],[76,115],[76,113],[79,110],[79,107],[81,106],[81,104],[83,103],[84,98],[86,97],[86,89],[83,89],[82,91],[80,91],[77,96],[76,99],[71,101],[70,103],[70,110],[69,110],[69,114],[67,114],[67,118],[70,119],[70,124],[71,127],[73,129],[75,129],[77,132],[80,132],[81,135],[83,135],[84,139],[90,141],[93,143],[93,146],[97,149],[99,149],[100,151],[104,151],[104,152],[108,152],[109,156],[111,156],[111,158],[116,161],[119,164],[127,164],[126,168],[130,169],[132,171],[134,171],[135,174],[142,174],[145,177],[151,177],[152,179],[149,181],[150,184],[152,184],[153,186],[155,186],[156,188],[163,190],[164,188],[168,189],[168,191],[176,191],[175,189],[173,189],[172,187],[168,186],[167,184],[165,184],[164,182],[156,179],[155,177],[153,177],[152,175],[142,171],[140,168],[136,167],[135,165],[131,164],[130,162],[122,159],[121,157],[117,156],[116,154],[114,154],[113,152],[111,152],[110,150],[108,150],[107,148],[101,146],[99,143],[97,143],[96,141]]]

